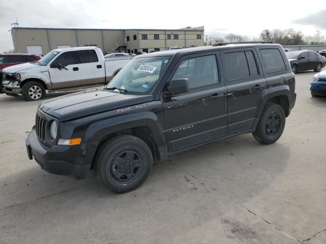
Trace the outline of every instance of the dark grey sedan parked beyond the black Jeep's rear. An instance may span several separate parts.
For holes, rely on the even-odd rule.
[[[326,65],[326,58],[311,50],[287,52],[286,56],[294,74],[300,70],[320,72],[321,68]]]

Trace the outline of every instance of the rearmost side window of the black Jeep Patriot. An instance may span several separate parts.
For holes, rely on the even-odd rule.
[[[260,55],[263,59],[267,74],[273,74],[286,70],[281,52],[277,48],[260,49]]]

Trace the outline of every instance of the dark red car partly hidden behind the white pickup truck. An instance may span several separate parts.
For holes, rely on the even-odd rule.
[[[0,94],[4,93],[2,87],[2,69],[19,65],[23,63],[35,62],[36,60],[41,59],[41,56],[35,54],[25,54],[25,53],[5,53],[0,54]]]

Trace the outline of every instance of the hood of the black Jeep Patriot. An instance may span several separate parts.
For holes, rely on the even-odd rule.
[[[40,109],[60,121],[88,116],[113,109],[128,107],[153,100],[152,95],[125,95],[108,91],[88,90],[50,99]]]

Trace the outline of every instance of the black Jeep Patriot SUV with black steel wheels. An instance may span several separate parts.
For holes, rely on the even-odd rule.
[[[43,102],[26,139],[47,172],[87,177],[122,193],[138,188],[153,161],[215,140],[283,133],[295,77],[282,46],[218,43],[134,57],[101,90]]]

